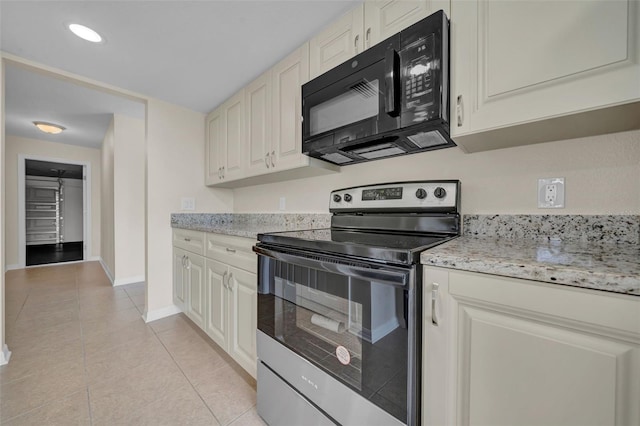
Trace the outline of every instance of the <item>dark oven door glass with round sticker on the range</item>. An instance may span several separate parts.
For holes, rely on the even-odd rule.
[[[403,287],[269,262],[258,328],[402,422],[408,308]],[[266,292],[265,292],[266,293]]]

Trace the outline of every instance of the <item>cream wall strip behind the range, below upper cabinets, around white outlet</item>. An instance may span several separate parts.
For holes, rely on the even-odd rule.
[[[566,208],[537,208],[538,178],[564,177]],[[640,214],[640,131],[475,154],[459,148],[343,167],[336,175],[235,190],[235,212],[328,212],[329,192],[349,186],[460,179],[465,214]]]

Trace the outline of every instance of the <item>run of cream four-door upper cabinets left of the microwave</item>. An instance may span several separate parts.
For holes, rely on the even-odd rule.
[[[235,188],[340,170],[302,154],[302,85],[308,80],[305,43],[209,114],[207,185]],[[209,166],[216,164],[219,169]]]

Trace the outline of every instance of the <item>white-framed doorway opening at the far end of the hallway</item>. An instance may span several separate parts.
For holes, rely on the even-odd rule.
[[[89,165],[26,156],[19,162],[20,264],[87,259]]]

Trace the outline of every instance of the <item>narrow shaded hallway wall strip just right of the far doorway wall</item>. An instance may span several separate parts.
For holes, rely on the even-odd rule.
[[[113,281],[116,272],[115,233],[113,218],[113,151],[114,151],[114,123],[113,119],[104,134],[100,149],[101,178],[100,178],[100,257],[107,269],[109,278]]]

